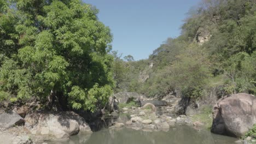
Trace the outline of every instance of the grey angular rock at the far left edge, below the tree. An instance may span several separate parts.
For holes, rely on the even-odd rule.
[[[14,125],[22,124],[24,122],[24,119],[15,111],[0,113],[0,128],[7,129],[13,127]]]

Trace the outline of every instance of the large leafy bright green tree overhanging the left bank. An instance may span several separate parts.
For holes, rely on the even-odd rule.
[[[79,0],[0,5],[0,98],[66,101],[91,111],[107,101],[112,35],[97,9]]]

